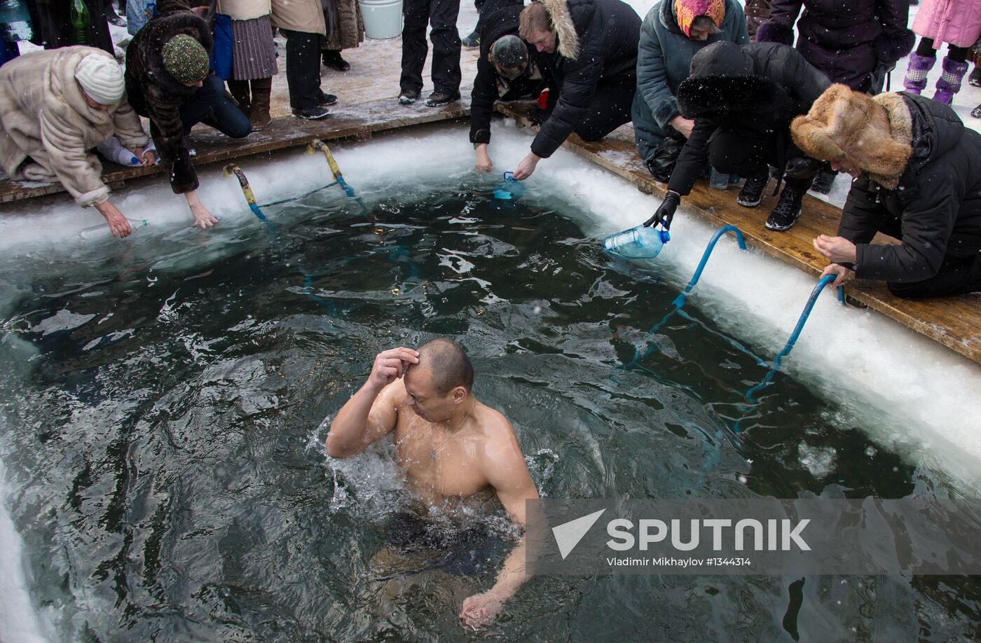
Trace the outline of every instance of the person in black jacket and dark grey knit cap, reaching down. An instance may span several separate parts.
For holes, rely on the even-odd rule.
[[[552,84],[548,56],[517,35],[521,9],[520,5],[505,7],[486,16],[479,34],[481,57],[470,100],[470,142],[477,151],[479,172],[493,169],[488,144],[494,102],[534,98]],[[548,93],[557,94],[558,88],[552,86]]]

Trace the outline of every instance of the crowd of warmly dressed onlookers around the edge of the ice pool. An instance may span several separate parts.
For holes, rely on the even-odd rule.
[[[321,66],[348,69],[340,52],[364,37],[356,0],[123,0],[132,37],[121,68],[109,24],[123,21],[112,0],[0,0],[0,8],[11,3],[24,16],[0,14],[3,169],[61,181],[122,236],[129,223],[110,202],[94,149],[122,149],[142,164],[159,156],[194,223],[210,227],[217,220],[197,197],[190,128],[240,138],[270,123],[276,30],[292,115],[329,116],[337,99],[321,88]],[[421,99],[427,30],[429,107],[459,100],[461,47],[479,47],[476,170],[492,168],[494,102],[524,98],[538,100],[541,126],[514,178],[531,176],[572,133],[595,141],[633,122],[645,168],[667,183],[647,225],[669,226],[709,175],[713,185],[743,180],[736,203],[747,208],[775,179],[779,199],[765,224],[784,231],[808,189],[827,193],[846,172],[854,180],[839,234],[813,242],[836,283],[883,279],[910,297],[981,289],[981,136],[949,107],[979,46],[981,0],[922,0],[912,29],[909,0],[660,0],[643,20],[621,0],[478,8],[477,26],[461,38],[460,0],[404,0],[397,98]],[[45,51],[18,56],[11,43],[26,37]],[[907,55],[905,91],[884,92]],[[969,81],[981,85],[977,69]],[[872,244],[878,231],[902,243]]]

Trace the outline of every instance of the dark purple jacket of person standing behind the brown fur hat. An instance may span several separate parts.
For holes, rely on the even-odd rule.
[[[774,0],[756,40],[794,44],[796,23],[797,48],[808,63],[834,82],[868,91],[877,66],[891,65],[912,49],[908,20],[909,0]]]

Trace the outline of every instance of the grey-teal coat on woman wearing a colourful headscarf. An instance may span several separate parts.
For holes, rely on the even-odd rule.
[[[726,0],[722,31],[708,36],[705,42],[685,35],[678,26],[673,4],[671,0],[661,0],[651,7],[641,25],[633,116],[637,150],[644,160],[653,155],[654,149],[674,129],[669,123],[680,114],[675,93],[689,75],[692,57],[706,45],[720,40],[749,44],[746,16],[737,0]]]

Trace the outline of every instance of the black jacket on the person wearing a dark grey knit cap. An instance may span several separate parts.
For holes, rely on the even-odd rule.
[[[525,43],[528,48],[529,68],[525,74],[514,80],[499,78],[490,64],[488,55],[490,47],[505,35],[518,34],[518,17],[523,6],[505,7],[499,9],[484,20],[481,28],[481,57],[477,59],[477,77],[474,78],[474,91],[470,100],[470,142],[490,142],[490,118],[493,116],[493,104],[497,100],[514,100],[521,96],[541,89],[544,85],[554,84],[548,71],[550,56],[541,54],[532,45]],[[533,72],[533,69],[537,72]],[[532,77],[538,75],[540,77]],[[504,83],[504,84],[498,84]],[[506,92],[501,95],[501,90]],[[556,90],[555,87],[552,87]],[[549,94],[552,92],[549,91]]]

